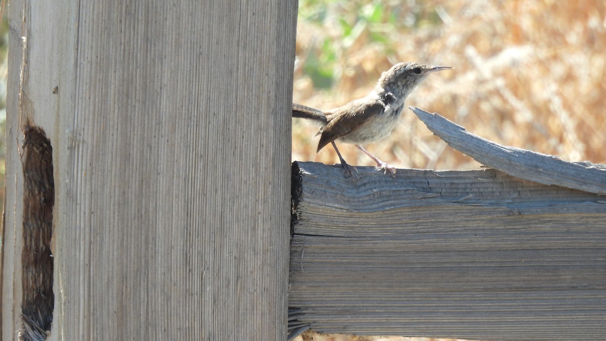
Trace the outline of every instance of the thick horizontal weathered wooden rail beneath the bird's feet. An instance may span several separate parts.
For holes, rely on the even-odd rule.
[[[606,335],[606,198],[494,169],[293,164],[289,305],[315,331]]]

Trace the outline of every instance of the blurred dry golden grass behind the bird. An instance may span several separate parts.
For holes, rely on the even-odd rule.
[[[340,106],[365,95],[381,72],[400,61],[454,66],[431,75],[407,105],[438,112],[497,143],[606,163],[604,2],[327,2],[300,2],[296,103]],[[356,34],[345,32],[344,22],[358,24]],[[306,70],[322,61],[333,70],[327,90],[316,89]],[[338,162],[330,146],[316,155],[316,132],[293,120],[293,160]],[[374,166],[355,147],[339,146],[349,163]],[[367,149],[396,167],[479,167],[408,109],[390,138]]]

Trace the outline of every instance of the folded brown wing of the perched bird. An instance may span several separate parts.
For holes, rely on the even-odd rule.
[[[328,124],[321,130],[322,136],[320,137],[317,151],[319,152],[320,149],[324,148],[328,143],[358,130],[359,127],[364,126],[364,124],[367,124],[376,116],[381,115],[381,113],[385,111],[385,106],[387,105],[388,104],[380,98],[374,101],[359,101],[359,103],[355,105],[348,104],[350,110],[342,113],[342,115],[329,118]],[[338,111],[339,109],[336,109],[335,111]]]

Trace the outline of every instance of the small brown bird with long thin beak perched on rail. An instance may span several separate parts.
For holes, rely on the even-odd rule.
[[[412,90],[431,72],[447,69],[453,67],[401,62],[382,73],[375,89],[363,98],[327,112],[293,103],[293,117],[307,118],[321,126],[318,132],[321,137],[316,152],[331,143],[349,174],[351,167],[341,157],[335,141],[355,144],[377,163],[377,167],[381,167],[384,172],[390,170],[395,174],[393,167],[374,157],[360,145],[387,137],[398,123],[404,109],[404,101]]]

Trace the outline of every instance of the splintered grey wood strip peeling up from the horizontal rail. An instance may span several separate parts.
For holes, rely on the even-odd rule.
[[[590,162],[569,162],[556,155],[501,146],[469,133],[437,113],[409,107],[431,132],[459,152],[487,167],[501,170],[514,177],[542,184],[606,194],[606,165]]]

